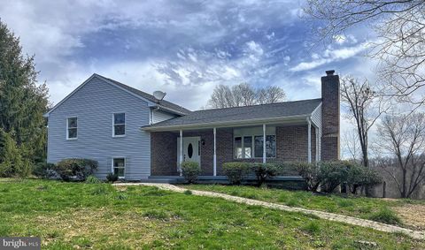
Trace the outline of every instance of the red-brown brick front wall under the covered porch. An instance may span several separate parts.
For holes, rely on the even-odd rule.
[[[151,176],[178,175],[177,138],[179,133],[151,133]],[[183,132],[183,137],[199,136],[201,141],[202,175],[213,175],[213,129]],[[222,164],[228,162],[262,162],[262,158],[235,159],[233,129],[218,128],[216,134],[217,175],[222,175]],[[315,159],[315,130],[312,127],[312,159]],[[276,158],[267,162],[307,161],[307,125],[276,127]]]

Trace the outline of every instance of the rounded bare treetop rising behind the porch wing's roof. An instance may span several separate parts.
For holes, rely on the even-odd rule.
[[[220,109],[282,102],[285,92],[281,87],[266,87],[255,89],[247,83],[238,84],[232,88],[219,85],[214,88],[208,106]]]

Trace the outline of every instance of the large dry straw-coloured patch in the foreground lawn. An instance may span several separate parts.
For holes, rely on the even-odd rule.
[[[158,231],[170,228],[173,220],[151,219],[135,211],[101,209],[75,209],[51,216],[36,216],[40,225],[42,244],[65,241],[74,248],[105,247],[112,245],[138,248],[158,239]]]

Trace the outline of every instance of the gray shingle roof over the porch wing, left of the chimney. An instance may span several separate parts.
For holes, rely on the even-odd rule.
[[[295,102],[278,102],[236,108],[196,110],[183,117],[176,117],[145,128],[177,125],[203,125],[221,122],[249,121],[252,119],[307,116],[321,104],[321,98]]]

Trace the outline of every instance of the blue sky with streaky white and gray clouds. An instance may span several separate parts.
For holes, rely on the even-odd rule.
[[[298,100],[320,97],[326,70],[374,80],[369,29],[314,44],[303,1],[0,1],[52,103],[94,72],[190,110],[218,84],[275,85]]]

